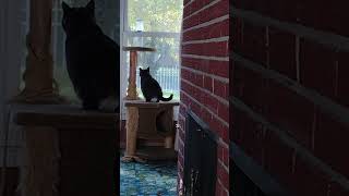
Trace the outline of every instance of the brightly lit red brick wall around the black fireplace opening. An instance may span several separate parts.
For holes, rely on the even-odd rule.
[[[190,107],[219,136],[217,196],[229,194],[228,37],[228,0],[184,0],[179,180],[184,166],[184,117]]]

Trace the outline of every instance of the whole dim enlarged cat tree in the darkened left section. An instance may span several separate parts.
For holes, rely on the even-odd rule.
[[[9,107],[9,124],[25,133],[19,195],[115,195],[119,115],[65,105],[53,79],[52,0],[29,2],[25,88]]]

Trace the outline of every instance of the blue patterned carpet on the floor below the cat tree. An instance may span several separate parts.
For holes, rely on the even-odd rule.
[[[177,196],[173,161],[135,163],[120,161],[120,196]]]

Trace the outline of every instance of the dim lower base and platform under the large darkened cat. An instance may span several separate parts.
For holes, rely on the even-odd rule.
[[[116,184],[119,172],[119,114],[86,112],[71,106],[27,105],[14,107],[13,113],[13,122],[23,125],[26,132],[29,143],[26,146],[28,155],[37,155],[29,156],[27,161],[29,168],[37,169],[24,179],[39,177],[40,181],[48,182],[45,185],[48,187],[36,184],[36,189],[52,189],[52,184],[49,186],[52,175],[43,175],[40,172],[57,170],[57,176],[53,179],[58,177],[59,181],[53,185],[57,186],[60,196],[119,194]],[[50,139],[49,143],[43,142],[50,135],[49,132],[55,132],[52,134],[55,137],[52,135],[47,137]],[[47,148],[51,142],[58,144],[49,145],[52,150],[33,148],[33,146]],[[45,166],[44,161],[55,156],[59,156],[55,159],[57,164]],[[26,188],[33,189],[33,187]]]

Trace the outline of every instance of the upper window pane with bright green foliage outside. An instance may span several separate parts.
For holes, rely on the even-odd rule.
[[[180,32],[182,4],[180,0],[129,0],[130,30]]]

